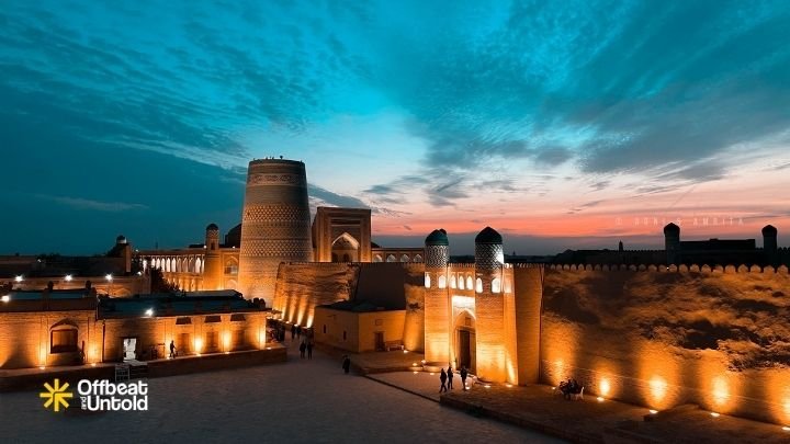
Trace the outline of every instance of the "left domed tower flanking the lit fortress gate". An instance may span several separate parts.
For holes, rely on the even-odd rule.
[[[430,365],[443,367],[450,362],[450,309],[448,261],[450,241],[447,231],[431,231],[425,240],[425,357]]]

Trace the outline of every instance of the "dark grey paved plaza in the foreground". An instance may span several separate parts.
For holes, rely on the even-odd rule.
[[[335,355],[153,378],[147,412],[54,413],[36,391],[0,394],[7,442],[558,443],[384,384],[345,375]]]

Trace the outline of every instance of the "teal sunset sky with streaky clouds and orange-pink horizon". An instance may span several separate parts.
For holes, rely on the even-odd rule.
[[[0,8],[0,254],[201,242],[303,160],[373,240],[471,253],[790,242],[787,1],[40,1]]]

